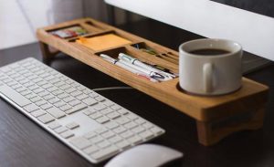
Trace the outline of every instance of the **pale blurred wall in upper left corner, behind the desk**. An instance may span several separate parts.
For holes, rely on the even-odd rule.
[[[81,2],[0,0],[0,49],[36,42],[37,27],[81,17]]]

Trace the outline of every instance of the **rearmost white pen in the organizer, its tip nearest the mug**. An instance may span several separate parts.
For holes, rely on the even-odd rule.
[[[157,69],[157,68],[150,67],[150,66],[142,63],[142,61],[138,60],[137,58],[131,57],[131,56],[126,55],[124,53],[120,53],[118,58],[122,59],[124,61],[131,62],[133,65],[136,65],[136,66],[139,66],[139,67],[142,67],[142,68],[157,72],[159,74],[162,74],[166,78],[169,78],[169,79],[175,78],[175,76],[173,74],[164,72],[164,71],[162,71],[160,69]],[[169,79],[167,79],[167,80],[169,80]]]

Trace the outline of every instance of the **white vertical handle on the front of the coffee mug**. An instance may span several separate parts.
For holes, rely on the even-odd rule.
[[[213,64],[206,63],[203,67],[203,81],[205,93],[210,93],[213,90]]]

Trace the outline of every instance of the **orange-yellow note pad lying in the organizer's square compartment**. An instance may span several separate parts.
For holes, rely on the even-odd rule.
[[[95,51],[132,43],[132,41],[116,36],[114,34],[107,34],[89,38],[79,37],[79,39],[76,40],[76,42],[85,47],[90,47],[92,50]]]

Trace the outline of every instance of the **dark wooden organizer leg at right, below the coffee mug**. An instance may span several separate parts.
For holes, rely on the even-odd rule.
[[[232,117],[229,120],[203,122],[196,120],[198,140],[205,146],[213,145],[229,134],[240,130],[258,130],[263,126],[264,109],[241,115],[241,119]],[[243,119],[244,116],[244,119]]]

